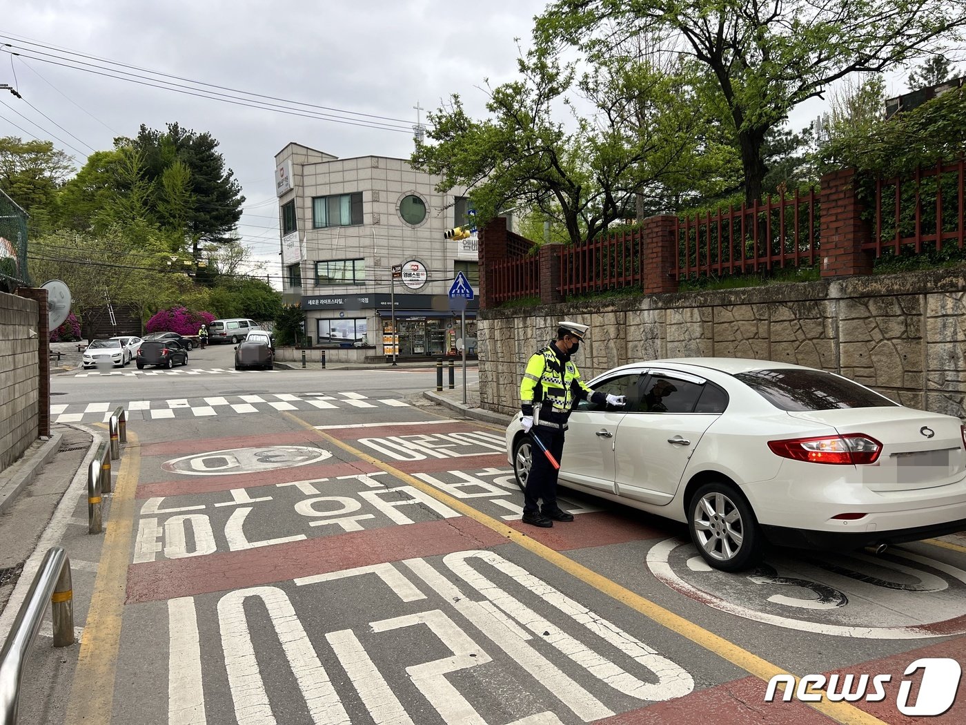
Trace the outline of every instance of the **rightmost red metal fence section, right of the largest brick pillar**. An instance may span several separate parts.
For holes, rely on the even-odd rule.
[[[872,239],[862,245],[875,256],[900,253],[912,245],[942,249],[948,242],[963,248],[966,218],[963,207],[964,160],[939,163],[911,179],[878,180],[875,186],[875,221]]]

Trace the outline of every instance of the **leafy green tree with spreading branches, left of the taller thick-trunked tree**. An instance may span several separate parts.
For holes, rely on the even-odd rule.
[[[549,54],[519,61],[521,78],[493,89],[491,118],[469,117],[459,96],[430,112],[430,142],[419,143],[412,164],[440,176],[437,188],[469,188],[479,224],[508,206],[554,220],[570,241],[591,239],[614,219],[633,215],[634,196],[654,178],[653,160],[687,132],[687,119],[655,113],[645,128],[629,125],[615,94],[667,97],[672,83],[653,67],[629,75],[588,74],[578,86],[598,113],[574,113],[571,128],[553,117],[568,107],[578,84],[574,70]],[[634,86],[621,86],[621,79]]]

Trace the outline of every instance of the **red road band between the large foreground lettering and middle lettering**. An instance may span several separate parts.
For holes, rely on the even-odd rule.
[[[400,562],[505,542],[459,517],[273,544],[245,551],[128,566],[128,603],[227,592],[330,571]]]

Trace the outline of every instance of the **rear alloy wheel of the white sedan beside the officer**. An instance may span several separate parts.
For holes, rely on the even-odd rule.
[[[695,491],[688,528],[704,561],[717,569],[740,571],[761,558],[761,534],[752,507],[728,483],[705,483]]]

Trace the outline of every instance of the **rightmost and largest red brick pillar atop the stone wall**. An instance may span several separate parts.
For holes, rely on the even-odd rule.
[[[871,241],[872,230],[856,197],[855,169],[826,174],[821,185],[821,275],[872,274],[874,253],[862,248]]]

